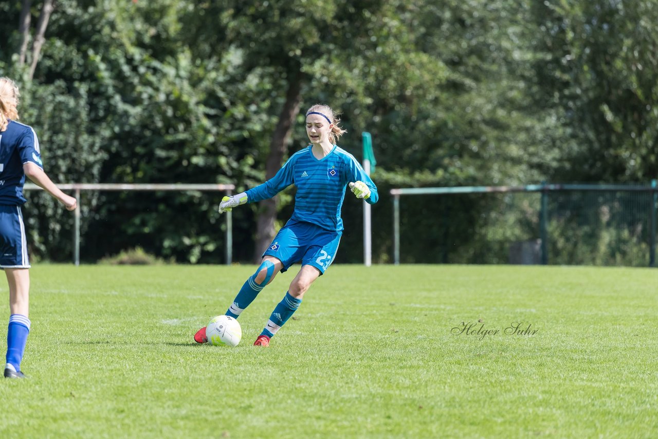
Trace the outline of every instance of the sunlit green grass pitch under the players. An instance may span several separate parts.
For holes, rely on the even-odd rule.
[[[255,348],[291,271],[237,348],[195,344],[254,270],[33,267],[29,379],[0,385],[0,437],[658,435],[656,269],[336,265]]]

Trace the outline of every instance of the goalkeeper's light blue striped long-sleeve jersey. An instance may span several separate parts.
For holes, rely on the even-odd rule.
[[[340,209],[349,182],[361,180],[370,188],[366,200],[374,204],[379,199],[377,187],[353,155],[334,145],[334,149],[316,159],[310,145],[291,155],[276,175],[265,183],[247,190],[249,203],[274,197],[291,184],[297,186],[295,211],[290,221],[305,221],[326,230],[340,232],[343,220]]]

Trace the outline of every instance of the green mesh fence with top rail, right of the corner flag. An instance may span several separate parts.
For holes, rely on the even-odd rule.
[[[434,200],[442,203],[444,214],[418,225],[443,237],[433,243],[431,251],[440,254],[432,262],[656,267],[656,180],[649,185],[464,186],[390,193],[395,264],[401,261],[405,212],[418,220],[421,204]],[[418,201],[407,199],[401,215],[403,195],[417,195]],[[451,214],[468,209],[472,215],[455,219]],[[405,236],[403,242],[424,244],[422,236]]]

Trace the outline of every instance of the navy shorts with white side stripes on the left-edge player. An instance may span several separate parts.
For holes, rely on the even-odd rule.
[[[28,240],[20,206],[0,205],[0,268],[30,268]]]

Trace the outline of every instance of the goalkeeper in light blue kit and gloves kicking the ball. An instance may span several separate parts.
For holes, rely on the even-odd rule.
[[[224,197],[219,212],[244,203],[271,198],[291,184],[297,186],[295,210],[263,253],[263,262],[247,279],[226,315],[238,318],[278,272],[301,261],[301,269],[290,283],[283,300],[276,305],[255,346],[269,346],[270,338],[299,308],[305,292],[324,274],[336,257],[343,233],[340,209],[349,185],[357,198],[377,202],[377,188],[359,162],[335,143],[345,132],[340,120],[326,105],[314,105],[306,113],[306,132],[311,145],[291,155],[276,175],[260,186],[232,197]],[[207,342],[205,328],[194,336]]]

